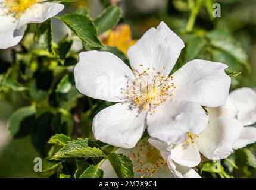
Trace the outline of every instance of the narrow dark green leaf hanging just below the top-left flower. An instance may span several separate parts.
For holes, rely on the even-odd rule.
[[[56,56],[56,53],[53,48],[53,39],[52,39],[52,23],[51,20],[48,19],[44,23],[40,25],[40,36],[39,36],[39,45],[48,50],[49,53]]]

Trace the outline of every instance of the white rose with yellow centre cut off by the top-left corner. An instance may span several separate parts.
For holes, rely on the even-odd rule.
[[[17,45],[27,24],[43,23],[64,9],[64,5],[42,0],[0,0],[0,49]]]

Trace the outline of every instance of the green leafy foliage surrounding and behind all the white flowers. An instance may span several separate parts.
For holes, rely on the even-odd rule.
[[[58,17],[30,24],[20,46],[1,50],[0,125],[8,127],[10,140],[0,147],[0,177],[101,178],[102,170],[93,165],[104,157],[119,177],[133,176],[126,156],[93,140],[92,119],[111,103],[76,90],[72,67],[79,52],[71,49],[75,35],[83,50],[106,50],[129,62],[116,47],[103,45],[98,35],[127,23],[133,39],[139,39],[163,20],[186,45],[176,69],[195,58],[224,62],[233,77],[231,90],[256,87],[256,1],[166,0],[146,11],[134,1],[119,2],[124,11],[111,2],[64,3],[65,11]],[[214,2],[221,5],[220,18],[211,15]],[[71,36],[58,29],[64,25],[72,30]],[[220,172],[208,160],[196,170],[209,178],[255,178],[255,155],[256,145],[249,145],[222,160]],[[35,157],[43,158],[42,173],[33,171]]]

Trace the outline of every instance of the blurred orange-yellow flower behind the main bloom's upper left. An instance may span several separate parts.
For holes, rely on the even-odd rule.
[[[132,40],[132,31],[128,24],[118,25],[114,30],[103,34],[100,39],[105,45],[117,47],[125,54],[129,47],[136,42],[136,40]]]

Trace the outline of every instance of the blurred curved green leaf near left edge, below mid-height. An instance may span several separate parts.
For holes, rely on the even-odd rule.
[[[36,109],[33,106],[21,107],[8,119],[8,129],[11,136],[15,136],[20,130],[21,122],[29,116],[35,115]]]

